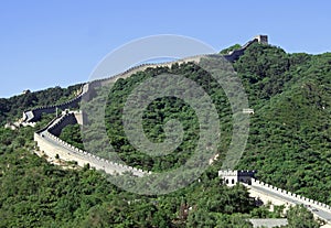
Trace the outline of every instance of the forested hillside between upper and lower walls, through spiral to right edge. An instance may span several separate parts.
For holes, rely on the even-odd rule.
[[[279,47],[256,43],[246,50],[234,68],[255,110],[247,146],[237,167],[257,170],[264,182],[331,204],[331,54],[288,54]],[[185,75],[211,95],[221,121],[221,159],[214,164],[221,167],[232,134],[229,104],[223,89],[203,69],[190,63],[150,68],[115,84],[108,97],[106,122],[117,153],[130,165],[161,171],[180,166],[194,149],[199,137],[196,116],[175,98],[153,101],[143,121],[146,134],[154,142],[164,140],[164,121],[173,118],[181,121],[184,140],[174,153],[152,159],[139,153],[125,135],[121,110],[127,97],[135,85],[161,73]],[[75,132],[79,134],[77,129]],[[73,141],[68,137],[63,139]],[[78,135],[76,139],[78,141],[73,143],[82,143]]]

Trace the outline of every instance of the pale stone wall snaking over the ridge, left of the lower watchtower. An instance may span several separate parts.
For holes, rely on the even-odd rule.
[[[234,62],[236,61],[241,55],[244,54],[244,51],[253,43],[257,42],[257,39],[254,39],[249,42],[247,42],[242,48],[234,51],[233,53],[228,55],[224,55],[224,58]],[[54,106],[45,106],[45,107],[39,107],[32,110],[26,110],[23,112],[23,119],[22,122],[28,124],[31,122],[39,121],[42,113],[54,113],[57,109],[70,109],[70,108],[78,108],[81,100],[84,99],[92,99],[93,93],[92,90],[95,87],[103,86],[108,83],[116,82],[118,78],[126,78],[131,76],[132,74],[145,70],[148,67],[161,67],[161,66],[171,66],[173,63],[182,64],[185,62],[199,62],[203,56],[207,55],[197,55],[197,56],[191,56],[186,57],[180,61],[173,61],[169,63],[160,63],[160,64],[141,64],[138,66],[134,66],[129,68],[128,70],[120,73],[118,75],[115,75],[113,77],[104,78],[104,79],[96,79],[88,84],[85,84],[82,88],[82,93],[75,97],[74,99],[61,104],[61,105],[54,105]],[[43,151],[46,155],[50,158],[56,156],[56,154],[62,159],[66,161],[76,161],[78,165],[84,166],[85,164],[89,163],[92,167],[96,167],[97,170],[104,170],[106,173],[114,174],[114,173],[122,173],[122,172],[132,172],[135,175],[142,176],[150,172],[145,172],[142,170],[138,170],[131,166],[118,164],[110,162],[108,160],[98,158],[94,154],[90,154],[86,151],[82,151],[77,148],[72,146],[71,144],[62,141],[57,137],[61,134],[62,129],[67,124],[74,124],[77,122],[77,119],[75,117],[74,112],[68,112],[66,115],[62,115],[58,118],[55,118],[52,120],[44,129],[36,131],[34,133],[34,141],[36,142],[38,146],[41,151]]]

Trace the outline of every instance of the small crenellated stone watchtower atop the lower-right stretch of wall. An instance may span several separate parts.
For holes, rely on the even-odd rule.
[[[250,185],[252,178],[255,177],[256,171],[218,171],[218,176],[227,186],[234,186],[238,182]]]

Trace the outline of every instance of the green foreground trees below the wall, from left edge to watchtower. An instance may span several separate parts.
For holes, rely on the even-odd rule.
[[[99,172],[63,170],[33,154],[33,130],[0,129],[0,227],[192,227],[205,213],[213,224],[247,224],[238,218],[255,207],[243,186],[220,185],[215,172],[166,196],[124,192]]]

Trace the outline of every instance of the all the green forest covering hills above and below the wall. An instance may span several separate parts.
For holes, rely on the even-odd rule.
[[[331,204],[331,54],[288,54],[279,47],[253,44],[234,64],[246,89],[250,118],[247,148],[238,169],[257,170],[275,186]],[[180,166],[197,140],[197,118],[182,100],[161,98],[145,112],[146,134],[164,139],[163,123],[179,119],[184,141],[172,154],[152,159],[128,143],[121,109],[139,82],[160,73],[185,75],[212,97],[220,113],[220,159],[186,188],[164,196],[124,192],[88,166],[60,167],[33,153],[33,132],[53,117],[44,116],[35,129],[0,129],[0,227],[252,227],[248,217],[280,217],[256,206],[245,187],[226,187],[217,176],[232,134],[231,107],[223,89],[192,63],[147,69],[119,79],[109,93],[106,124],[111,144],[128,164],[157,172]],[[1,123],[22,110],[70,99],[79,85],[53,88],[0,100]],[[83,148],[78,126],[61,138]],[[103,155],[103,154],[99,154]],[[105,155],[105,154],[104,154]],[[288,214],[288,227],[318,227],[305,208]],[[305,225],[305,226],[303,226]]]

